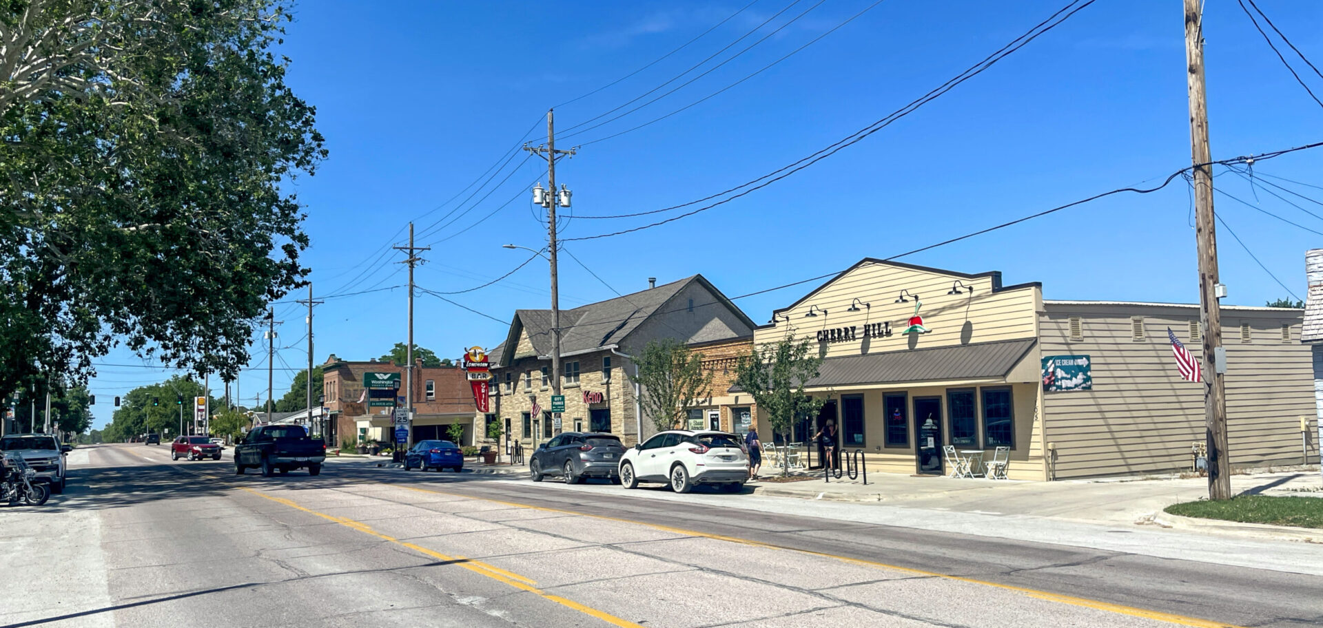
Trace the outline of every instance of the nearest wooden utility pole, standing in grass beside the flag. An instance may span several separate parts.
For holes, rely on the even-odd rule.
[[[1199,241],[1199,324],[1204,342],[1204,426],[1208,443],[1208,498],[1232,497],[1230,459],[1226,452],[1226,357],[1222,315],[1217,301],[1217,234],[1213,218],[1212,149],[1208,147],[1208,102],[1204,95],[1203,0],[1185,3],[1185,78],[1189,90],[1189,152],[1195,164],[1195,237]]]

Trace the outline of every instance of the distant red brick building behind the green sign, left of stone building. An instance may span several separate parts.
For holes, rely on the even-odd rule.
[[[422,366],[415,361],[414,382],[414,431],[413,439],[450,439],[446,428],[451,423],[463,423],[464,435],[459,444],[474,443],[474,402],[459,366]],[[378,362],[340,360],[333,353],[321,365],[321,385],[325,407],[335,426],[333,440],[345,444],[361,438],[366,440],[390,442],[393,427],[390,409],[368,406],[364,394],[364,373],[400,373],[404,378],[404,365],[393,361]],[[405,386],[401,383],[397,403],[404,407]]]

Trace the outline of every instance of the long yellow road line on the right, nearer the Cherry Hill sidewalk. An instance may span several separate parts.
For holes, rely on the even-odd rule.
[[[800,553],[800,554],[808,554],[808,555],[822,557],[822,558],[832,558],[832,559],[836,559],[836,561],[855,563],[855,565],[864,565],[864,566],[868,566],[868,567],[894,570],[894,571],[905,571],[905,572],[909,572],[909,574],[925,575],[925,576],[931,576],[931,578],[941,578],[941,579],[945,579],[945,580],[966,582],[966,583],[970,583],[970,584],[982,584],[982,586],[986,586],[986,587],[995,587],[995,588],[1000,588],[1000,590],[1004,590],[1004,591],[1015,591],[1015,592],[1024,594],[1024,595],[1027,595],[1029,598],[1035,598],[1035,599],[1040,599],[1040,600],[1056,602],[1056,603],[1060,603],[1060,604],[1069,604],[1069,606],[1077,606],[1077,607],[1084,607],[1084,608],[1093,608],[1093,609],[1097,609],[1097,611],[1105,611],[1105,612],[1111,612],[1111,613],[1117,613],[1117,615],[1126,615],[1126,616],[1131,616],[1131,617],[1142,617],[1142,619],[1151,619],[1151,620],[1156,620],[1156,621],[1166,621],[1168,624],[1188,625],[1188,627],[1192,627],[1192,628],[1245,628],[1245,627],[1240,627],[1240,625],[1234,625],[1234,624],[1226,624],[1226,623],[1222,623],[1222,621],[1212,621],[1212,620],[1200,619],[1200,617],[1189,617],[1189,616],[1185,616],[1185,615],[1176,615],[1176,613],[1162,612],[1162,611],[1150,611],[1147,608],[1136,608],[1136,607],[1129,607],[1129,606],[1123,606],[1123,604],[1113,604],[1110,602],[1091,600],[1091,599],[1088,599],[1088,598],[1077,598],[1077,596],[1073,596],[1073,595],[1053,594],[1053,592],[1048,592],[1048,591],[1039,591],[1039,590],[1035,590],[1035,588],[1016,587],[1013,584],[1002,584],[1002,583],[996,583],[996,582],[979,580],[979,579],[975,579],[975,578],[964,578],[964,576],[959,576],[959,575],[939,574],[937,571],[925,571],[925,570],[918,570],[918,569],[913,569],[913,567],[901,567],[898,565],[888,565],[888,563],[876,562],[876,561],[868,561],[868,559],[863,559],[863,558],[841,557],[841,555],[836,555],[836,554],[827,554],[827,553],[823,553],[823,551],[802,550],[802,549],[798,549],[798,547],[787,547],[787,546],[782,546],[782,545],[767,543],[767,542],[762,542],[762,541],[753,541],[753,539],[740,538],[740,537],[726,537],[726,535],[722,535],[722,534],[709,534],[709,533],[705,533],[705,531],[687,530],[687,529],[683,529],[683,528],[673,528],[673,526],[659,525],[659,524],[646,524],[646,522],[642,522],[642,521],[631,521],[631,520],[619,518],[619,517],[607,517],[605,514],[590,514],[590,513],[581,513],[581,512],[577,512],[577,510],[565,510],[565,509],[560,509],[560,508],[534,506],[532,504],[519,504],[519,502],[515,502],[515,501],[504,501],[504,500],[496,500],[496,498],[491,498],[491,497],[475,497],[475,496],[468,496],[468,494],[447,493],[445,491],[434,491],[434,489],[418,488],[418,487],[404,487],[404,485],[388,484],[388,483],[377,483],[377,484],[381,484],[384,487],[401,488],[401,489],[405,489],[405,491],[417,491],[419,493],[435,493],[435,494],[443,494],[443,496],[447,496],[447,497],[460,497],[460,498],[466,498],[466,500],[478,500],[478,501],[486,501],[486,502],[491,502],[491,504],[501,504],[501,505],[512,506],[512,508],[527,508],[527,509],[531,509],[531,510],[542,510],[542,512],[548,512],[548,513],[574,514],[574,516],[579,516],[579,517],[591,517],[591,518],[603,520],[603,521],[615,521],[615,522],[620,522],[620,524],[640,525],[640,526],[651,528],[654,530],[669,531],[669,533],[675,533],[675,534],[683,534],[683,535],[687,535],[687,537],[701,537],[701,538],[709,538],[709,539],[713,539],[713,541],[726,541],[726,542],[732,542],[732,543],[751,545],[751,546],[755,546],[755,547],[767,547],[767,549],[774,549],[774,550],[796,551],[796,553]]]

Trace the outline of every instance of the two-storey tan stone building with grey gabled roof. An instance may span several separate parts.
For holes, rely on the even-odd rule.
[[[515,312],[505,341],[490,353],[492,412],[503,422],[501,444],[536,447],[558,431],[601,431],[628,446],[639,432],[654,432],[639,418],[634,383],[626,369],[650,340],[680,342],[747,337],[754,323],[703,275],[656,286],[561,312],[561,428],[552,416],[550,311]],[[632,370],[630,372],[632,373]],[[538,411],[534,414],[534,403]]]

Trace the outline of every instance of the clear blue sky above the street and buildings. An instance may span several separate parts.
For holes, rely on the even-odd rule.
[[[845,137],[1002,48],[1066,0],[987,3],[885,0],[855,21],[757,77],[668,119],[593,141],[689,104],[802,46],[873,0],[712,3],[373,3],[315,0],[296,7],[282,53],[288,83],[318,107],[329,159],[291,182],[312,239],[306,263],[319,296],[405,283],[410,219],[427,263],[417,283],[458,291],[500,276],[528,258],[501,249],[545,246],[540,208],[527,189],[545,185],[545,164],[515,153],[475,196],[466,185],[499,165],[524,139],[545,140],[548,107],[583,95],[658,59],[721,20],[683,50],[556,110],[558,147],[583,144],[558,167],[574,213],[611,216],[688,202],[759,177]],[[816,8],[812,8],[815,7]],[[658,87],[774,17],[660,95],[812,8],[710,74],[620,120],[570,136],[572,128]],[[1323,4],[1261,1],[1311,59],[1323,61]],[[1215,159],[1323,139],[1320,108],[1291,78],[1232,1],[1205,16],[1208,99]],[[1283,48],[1283,52],[1291,54]],[[1291,58],[1291,57],[1289,57]],[[1323,95],[1323,78],[1291,58]],[[613,115],[617,115],[613,114]],[[609,116],[610,118],[610,116]],[[603,118],[606,119],[606,118]],[[601,122],[601,120],[598,120]],[[1323,149],[1320,149],[1323,151]],[[521,164],[521,165],[520,165]],[[1323,200],[1323,152],[1256,164],[1252,186],[1233,173],[1217,186],[1259,209],[1323,231],[1306,210],[1323,206],[1262,181]],[[569,242],[566,249],[620,292],[701,272],[729,296],[762,291],[885,258],[1114,188],[1154,185],[1189,165],[1180,3],[1098,0],[1061,26],[896,124],[767,188],[644,231]],[[508,178],[505,178],[508,176]],[[504,184],[500,184],[504,181]],[[460,194],[455,201],[446,202]],[[490,194],[490,196],[488,196]],[[466,201],[467,202],[463,202]],[[507,204],[508,201],[508,204]],[[1228,197],[1218,214],[1297,295],[1303,253],[1323,246],[1299,229]],[[438,222],[450,213],[448,218]],[[1315,212],[1318,210],[1318,212]],[[1024,225],[904,258],[964,272],[1000,270],[1005,283],[1043,282],[1048,299],[1196,301],[1191,200],[1180,184],[1114,196]],[[667,214],[663,214],[667,216]],[[458,217],[458,218],[456,218]],[[570,219],[566,238],[628,229],[647,218]],[[454,219],[454,221],[451,221]],[[1286,291],[1220,227],[1226,303],[1262,305]],[[546,264],[452,299],[508,320],[515,308],[548,305]],[[814,284],[740,299],[755,321]],[[296,297],[303,297],[299,292]],[[561,259],[561,304],[614,296],[572,258]],[[292,297],[291,297],[292,299]],[[417,296],[415,338],[446,357],[493,346],[505,325],[429,295]],[[307,362],[304,312],[277,305],[278,368]],[[332,297],[316,309],[316,362],[329,353],[365,360],[405,338],[405,291]],[[255,337],[262,342],[261,334]],[[115,350],[103,364],[144,364]],[[239,386],[262,391],[265,352]],[[95,426],[111,398],[169,370],[103,366]],[[278,370],[275,395],[292,370]],[[213,386],[217,386],[213,382]]]

